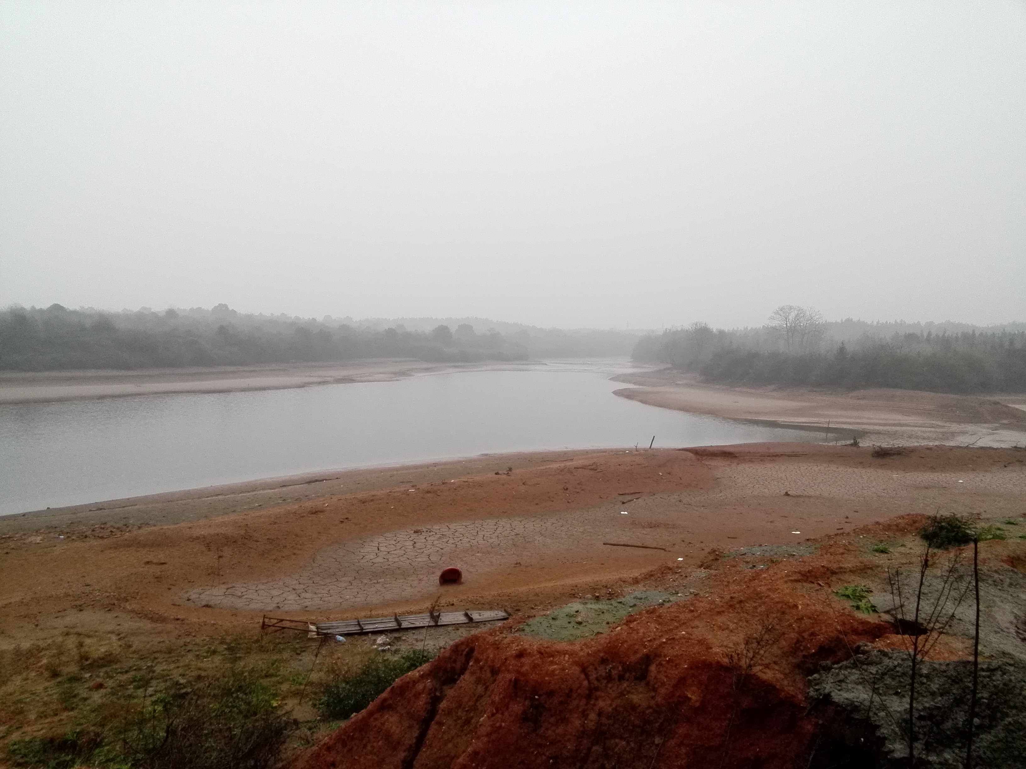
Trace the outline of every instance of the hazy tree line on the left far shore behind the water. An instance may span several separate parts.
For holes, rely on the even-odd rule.
[[[351,320],[351,319],[346,319]],[[506,324],[509,325],[509,324]],[[284,315],[205,310],[105,313],[61,305],[0,311],[0,370],[137,369],[417,358],[514,361],[541,356],[627,355],[637,334],[519,328],[503,334],[469,323],[408,330]]]

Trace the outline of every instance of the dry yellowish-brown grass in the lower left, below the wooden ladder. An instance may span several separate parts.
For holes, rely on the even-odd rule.
[[[294,750],[332,726],[311,705],[321,686],[358,671],[376,652],[368,641],[318,642],[305,635],[168,638],[132,644],[85,634],[0,649],[0,765],[18,740],[110,735],[162,693],[209,687],[244,670],[275,693],[277,712],[301,729]],[[25,744],[24,742],[19,744]]]

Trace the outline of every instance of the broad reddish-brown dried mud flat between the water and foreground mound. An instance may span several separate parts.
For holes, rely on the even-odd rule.
[[[70,629],[201,632],[252,626],[263,613],[422,610],[448,565],[466,578],[441,593],[443,605],[529,610],[660,565],[694,568],[711,549],[797,543],[908,513],[1026,509],[1026,451],[1015,449],[918,447],[880,459],[868,448],[745,444],[376,473],[348,476],[360,489],[349,493],[338,480],[311,484],[295,501],[199,520],[183,510],[209,500],[179,500],[184,522],[169,525],[145,505],[122,514],[130,524],[97,520],[117,511],[78,524],[40,517],[37,530],[31,517],[12,519],[0,534],[0,605],[12,620],[0,645]]]

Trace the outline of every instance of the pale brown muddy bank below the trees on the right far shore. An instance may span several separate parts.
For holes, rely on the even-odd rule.
[[[852,393],[729,388],[701,382],[693,374],[664,369],[614,377],[637,387],[622,398],[698,414],[771,420],[781,426],[854,430],[864,443],[978,446],[1026,445],[1022,396],[1008,399],[863,390]],[[1007,403],[1004,401],[1008,401]]]

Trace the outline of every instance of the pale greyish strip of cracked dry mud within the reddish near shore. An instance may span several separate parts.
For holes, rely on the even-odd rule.
[[[780,466],[718,467],[714,489],[646,494],[636,501],[608,502],[562,514],[453,521],[372,534],[324,548],[284,578],[204,586],[189,593],[188,600],[198,606],[251,611],[373,606],[432,595],[437,575],[445,566],[457,565],[472,575],[497,573],[573,554],[595,557],[603,550],[602,542],[610,540],[665,547],[665,554],[634,554],[675,559],[674,548],[681,549],[681,536],[688,535],[699,509],[718,509],[722,526],[728,527],[738,515],[732,511],[733,502],[784,491],[819,502],[832,499],[883,507],[889,499],[907,501],[911,491],[917,497],[916,507],[921,508],[916,512],[932,512],[937,505],[961,512],[972,499],[978,502],[988,492],[1018,493],[1026,498],[1026,474],[1018,469],[986,474],[896,474],[882,468],[844,467],[817,471],[810,474],[807,469]],[[628,516],[621,514],[624,509]],[[910,511],[895,511],[899,512]],[[751,515],[751,511],[746,513]],[[766,516],[768,529],[785,534],[785,529],[790,530],[790,524],[775,520],[779,513],[767,512]],[[820,525],[803,525],[802,530],[812,535],[832,531],[840,521],[828,517],[829,513],[817,522]]]

